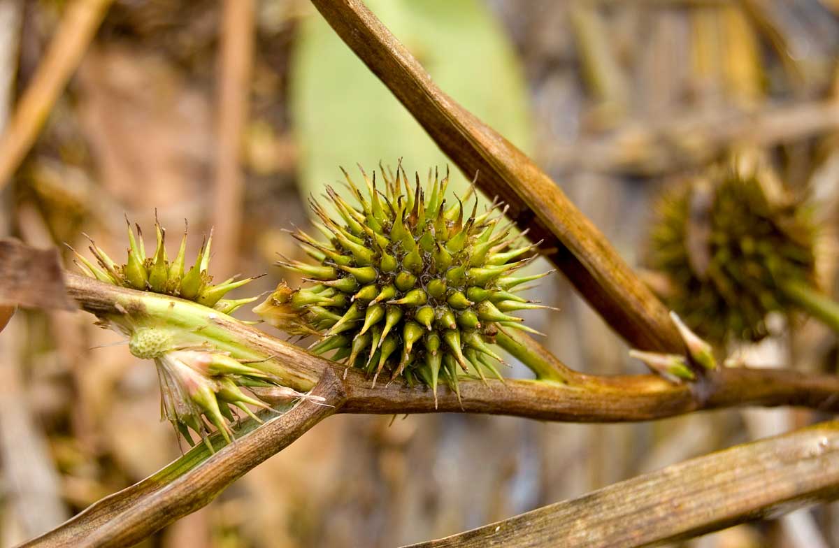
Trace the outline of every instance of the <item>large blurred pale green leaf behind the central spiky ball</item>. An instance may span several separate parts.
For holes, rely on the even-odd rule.
[[[456,101],[528,153],[531,120],[524,76],[504,29],[479,0],[368,0],[367,7]],[[300,191],[320,194],[338,166],[369,173],[378,163],[425,181],[448,159],[408,111],[317,13],[301,24],[291,72],[291,112],[300,146]],[[470,177],[471,179],[471,177]],[[466,180],[453,178],[457,192]]]

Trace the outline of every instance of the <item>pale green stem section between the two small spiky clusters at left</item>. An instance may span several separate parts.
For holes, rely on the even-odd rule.
[[[237,327],[242,326],[242,322],[220,311],[189,300],[150,292],[120,295],[116,305],[124,313],[109,314],[106,318],[128,334],[138,327],[170,331],[171,340],[177,346],[209,343],[218,351],[230,352],[232,358],[259,362],[261,370],[274,375],[289,388],[305,392],[317,382],[314,372],[285,365],[267,352],[260,352],[253,341],[240,337],[241,330]]]

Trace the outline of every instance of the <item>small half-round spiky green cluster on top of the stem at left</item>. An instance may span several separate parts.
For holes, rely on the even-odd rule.
[[[84,274],[108,284],[193,300],[225,314],[230,314],[240,306],[256,300],[256,297],[238,300],[222,298],[228,291],[248,284],[253,278],[233,277],[221,284],[212,284],[212,276],[208,270],[212,232],[206,242],[201,244],[195,264],[189,267],[185,264],[186,229],[180,241],[178,254],[169,260],[165,246],[166,230],[158,221],[154,222],[157,245],[154,253],[149,256],[146,255],[143,232],[140,231],[140,227],[136,226],[135,233],[128,219],[126,223],[128,223],[128,259],[125,264],[114,262],[92,239],[90,250],[96,259],[96,264],[70,248],[73,253],[76,253],[78,259],[76,264]]]

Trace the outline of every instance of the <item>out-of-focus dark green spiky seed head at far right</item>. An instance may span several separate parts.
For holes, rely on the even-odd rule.
[[[808,211],[766,168],[738,156],[667,191],[650,232],[649,264],[665,300],[714,343],[757,341],[790,303],[779,284],[814,279]]]

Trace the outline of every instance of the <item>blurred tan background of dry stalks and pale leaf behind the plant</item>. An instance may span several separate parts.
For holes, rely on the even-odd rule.
[[[836,225],[835,0],[367,4],[444,91],[530,154],[633,266],[644,266],[660,190],[735,145],[765,149],[812,201],[823,234]],[[76,19],[64,23],[70,13]],[[101,25],[91,23],[96,13]],[[193,253],[215,226],[216,279],[267,273],[237,294],[253,295],[288,277],[271,266],[277,252],[300,253],[282,229],[305,224],[305,197],[338,180],[339,165],[352,171],[360,162],[369,172],[402,157],[421,174],[446,165],[304,0],[0,0],[0,127],[23,91],[39,85],[51,39],[85,32],[95,35],[76,42],[77,52],[65,48],[67,59],[51,69],[81,57],[34,147],[0,187],[0,236],[84,249],[86,232],[122,258],[123,214],[150,233],[156,208],[175,234],[189,219]],[[454,178],[465,188],[463,175]],[[823,241],[821,281],[833,288],[836,253]],[[529,325],[550,333],[545,344],[565,363],[644,372],[561,276],[537,292],[561,312],[531,313]],[[92,321],[21,311],[0,336],[5,546],[180,456],[159,420],[151,363],[114,346],[120,337]],[[744,349],[753,363],[836,372],[826,329],[784,317],[771,324],[774,337]],[[401,545],[824,418],[724,410],[566,425],[341,415],[143,546]],[[839,546],[839,506],[681,545]]]

